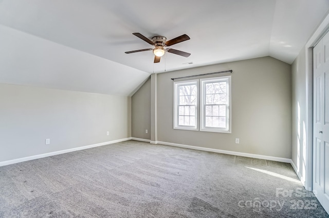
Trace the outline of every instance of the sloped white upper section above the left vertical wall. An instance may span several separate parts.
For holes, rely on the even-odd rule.
[[[150,76],[2,25],[0,48],[0,83],[129,96]]]

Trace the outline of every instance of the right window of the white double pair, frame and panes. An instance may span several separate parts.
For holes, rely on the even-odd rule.
[[[200,131],[230,133],[230,76],[201,79]]]

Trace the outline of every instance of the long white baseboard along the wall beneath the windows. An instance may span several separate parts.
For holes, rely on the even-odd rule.
[[[176,144],[176,143],[165,142],[165,141],[156,141],[155,144],[157,144],[157,143],[165,144],[166,146],[174,146],[174,147],[194,149],[194,150],[200,150],[200,151],[210,151],[210,152],[221,153],[221,154],[230,154],[230,155],[236,155],[236,156],[251,157],[251,158],[257,158],[257,159],[265,159],[265,160],[273,160],[273,161],[291,163],[291,159],[289,159],[289,158],[272,157],[272,156],[265,156],[265,155],[259,155],[259,154],[249,154],[249,153],[226,151],[226,150],[219,150],[219,149],[210,149],[210,148],[197,147],[197,146],[188,146],[186,144]]]

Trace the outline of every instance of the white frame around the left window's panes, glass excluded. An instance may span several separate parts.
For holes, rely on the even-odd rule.
[[[196,105],[195,105],[195,125],[178,125],[178,113],[179,113],[179,86],[182,85],[196,85]],[[177,130],[199,130],[199,118],[198,118],[198,111],[199,111],[199,80],[185,80],[185,81],[178,81],[174,82],[174,129]]]

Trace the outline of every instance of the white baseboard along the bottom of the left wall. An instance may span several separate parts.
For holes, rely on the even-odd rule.
[[[64,153],[68,153],[68,152],[72,152],[72,151],[79,151],[79,150],[90,149],[90,148],[95,148],[95,147],[99,147],[99,146],[106,146],[106,144],[113,144],[113,143],[117,143],[117,142],[121,142],[121,141],[131,140],[131,139],[132,138],[130,137],[130,138],[123,138],[123,139],[113,140],[113,141],[105,141],[105,142],[101,142],[101,143],[97,143],[97,144],[90,144],[89,146],[66,149],[66,150],[61,150],[61,151],[54,151],[54,152],[49,152],[49,153],[45,153],[45,154],[38,154],[38,155],[33,155],[33,156],[29,156],[29,157],[22,157],[22,158],[13,159],[13,160],[6,160],[6,161],[0,162],[0,167],[1,166],[6,166],[6,165],[11,165],[13,163],[19,163],[19,162],[39,159],[39,158],[43,158],[43,157],[49,157],[49,156],[58,155],[58,154],[64,154]]]

